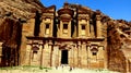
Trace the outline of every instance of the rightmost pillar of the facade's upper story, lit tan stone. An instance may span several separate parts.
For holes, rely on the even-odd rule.
[[[102,17],[100,15],[96,15],[96,36],[97,37],[102,37],[102,22],[100,22]]]

